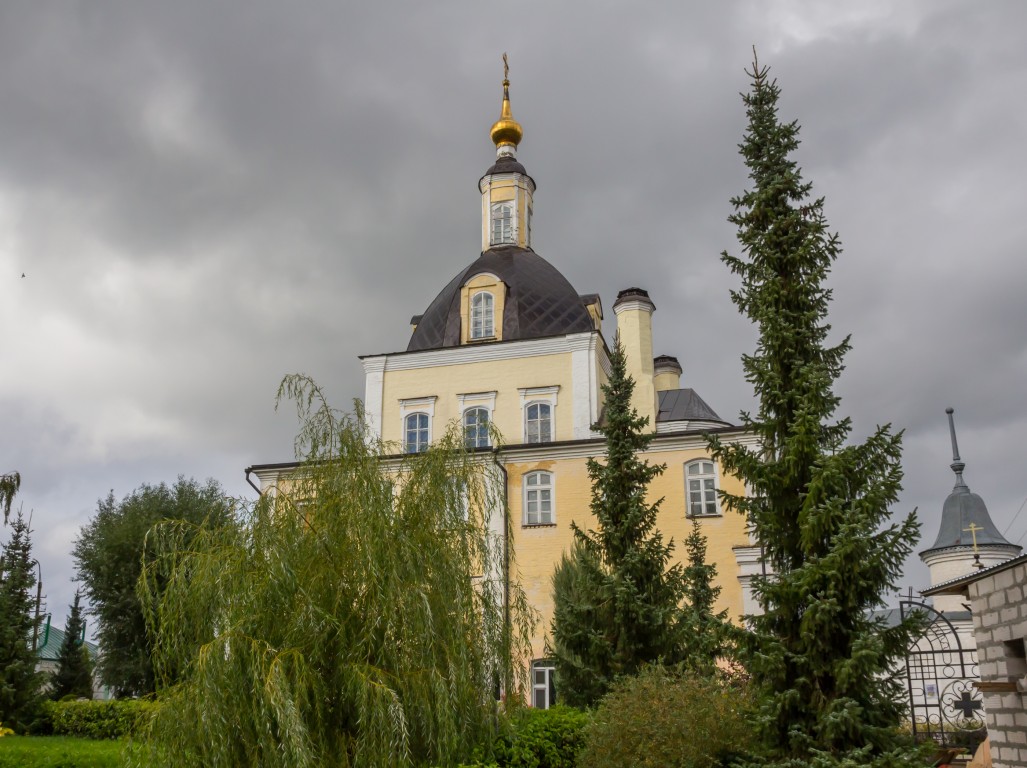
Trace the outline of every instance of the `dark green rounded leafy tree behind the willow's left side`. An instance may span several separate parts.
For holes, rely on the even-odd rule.
[[[233,505],[214,481],[204,485],[179,477],[168,487],[143,485],[121,501],[114,492],[98,502],[96,516],[82,528],[72,556],[78,569],[100,641],[98,671],[117,696],[154,690],[151,648],[136,586],[148,551],[146,536],[162,521],[230,525]],[[188,544],[188,541],[183,542]],[[149,547],[152,550],[152,547]]]

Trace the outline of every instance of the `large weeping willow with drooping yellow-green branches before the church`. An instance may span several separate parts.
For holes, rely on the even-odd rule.
[[[504,588],[498,468],[456,428],[385,459],[305,377],[282,397],[302,423],[289,483],[236,527],[151,532],[140,591],[158,705],[135,764],[469,759],[500,725],[499,690],[521,697],[531,629]]]

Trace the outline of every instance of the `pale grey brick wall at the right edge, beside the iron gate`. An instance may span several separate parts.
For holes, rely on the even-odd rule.
[[[992,761],[1027,768],[1027,563],[968,586]]]

